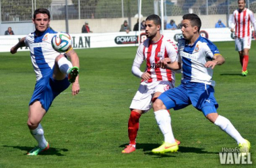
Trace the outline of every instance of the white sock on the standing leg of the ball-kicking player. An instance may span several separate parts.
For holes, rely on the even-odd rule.
[[[30,133],[32,134],[32,136],[38,142],[38,146],[41,149],[44,149],[46,147],[46,145],[47,145],[47,142],[46,142],[46,140],[44,138],[44,130],[42,129],[41,124],[39,124],[36,129],[30,130]]]

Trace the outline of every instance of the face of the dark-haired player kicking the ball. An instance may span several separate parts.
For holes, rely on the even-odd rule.
[[[38,13],[33,23],[38,32],[44,32],[49,27],[50,19],[45,13]]]

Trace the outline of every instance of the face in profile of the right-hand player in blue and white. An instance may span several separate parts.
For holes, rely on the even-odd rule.
[[[197,27],[192,26],[190,20],[188,19],[183,19],[182,24],[183,26],[181,28],[181,32],[183,34],[183,37],[186,40],[191,40],[195,33],[197,32]]]

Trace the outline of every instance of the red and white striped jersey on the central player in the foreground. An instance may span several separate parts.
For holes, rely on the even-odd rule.
[[[146,71],[151,75],[147,83],[153,81],[175,81],[174,72],[169,69],[160,69],[157,62],[160,59],[170,58],[171,62],[177,61],[177,46],[172,40],[161,36],[158,42],[151,42],[148,38],[139,44],[133,65],[140,67],[146,60]],[[146,72],[145,71],[145,72]]]

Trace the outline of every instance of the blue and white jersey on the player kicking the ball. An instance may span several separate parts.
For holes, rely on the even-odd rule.
[[[36,36],[35,32],[26,36],[26,46],[30,48],[32,65],[36,73],[36,81],[51,73],[55,58],[60,54],[51,45],[51,40],[57,32],[48,28],[45,32]]]

